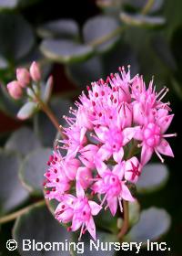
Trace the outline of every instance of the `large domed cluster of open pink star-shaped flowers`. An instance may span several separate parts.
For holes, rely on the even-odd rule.
[[[157,92],[153,80],[130,77],[119,68],[106,81],[87,86],[76,101],[71,117],[64,117],[66,138],[59,141],[47,163],[45,197],[56,199],[56,219],[81,228],[96,239],[93,216],[104,207],[113,216],[122,200],[134,201],[128,184],[136,183],[142,168],[156,153],[174,156],[165,134],[173,114],[169,102],[162,102],[167,88]],[[61,155],[60,149],[66,150]]]

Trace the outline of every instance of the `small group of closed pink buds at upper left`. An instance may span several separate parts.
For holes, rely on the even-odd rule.
[[[25,68],[16,69],[16,79],[7,84],[7,91],[15,100],[19,100],[23,96],[23,89],[25,89],[32,79],[37,82],[41,79],[41,73],[38,64],[34,61],[28,71]]]

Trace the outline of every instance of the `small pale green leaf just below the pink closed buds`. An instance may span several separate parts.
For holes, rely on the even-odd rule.
[[[19,110],[17,113],[17,118],[21,120],[28,119],[32,117],[32,115],[37,110],[38,104],[35,102],[26,102],[25,105]]]

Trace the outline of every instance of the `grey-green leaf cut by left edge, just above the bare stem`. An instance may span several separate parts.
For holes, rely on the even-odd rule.
[[[18,178],[21,158],[15,152],[0,150],[0,212],[5,213],[22,204],[28,194]]]

